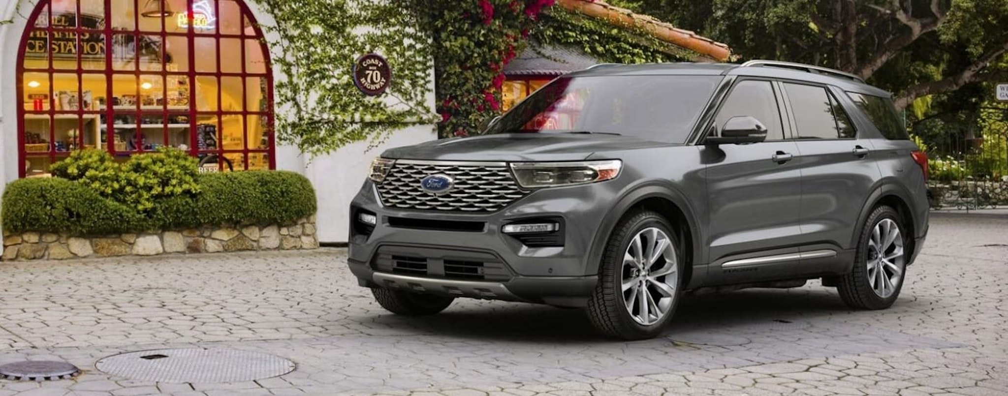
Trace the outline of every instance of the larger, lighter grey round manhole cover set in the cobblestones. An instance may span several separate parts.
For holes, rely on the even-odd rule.
[[[206,384],[277,377],[294,371],[295,365],[258,352],[188,348],[114,355],[98,361],[95,367],[132,380]]]

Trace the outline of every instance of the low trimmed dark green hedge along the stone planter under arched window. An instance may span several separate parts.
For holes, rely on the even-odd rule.
[[[143,214],[78,181],[19,179],[4,191],[0,221],[10,233],[98,236],[205,225],[284,225],[309,217],[318,209],[311,183],[294,172],[205,173],[197,176],[197,183],[200,192],[156,200]]]

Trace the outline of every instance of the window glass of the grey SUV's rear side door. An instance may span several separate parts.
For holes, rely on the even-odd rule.
[[[784,84],[784,91],[794,111],[800,139],[836,139],[837,121],[830,107],[830,97],[823,87]]]

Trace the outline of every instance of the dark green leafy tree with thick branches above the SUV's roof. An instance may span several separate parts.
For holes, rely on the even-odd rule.
[[[1008,79],[1005,0],[633,0],[638,11],[725,41],[743,58],[853,73],[896,106]]]

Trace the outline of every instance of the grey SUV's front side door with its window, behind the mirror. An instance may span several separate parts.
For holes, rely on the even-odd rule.
[[[712,128],[750,116],[767,128],[765,142],[707,145],[709,247],[713,282],[735,283],[786,276],[796,264],[801,234],[797,144],[787,140],[774,84],[743,80],[732,88]]]

